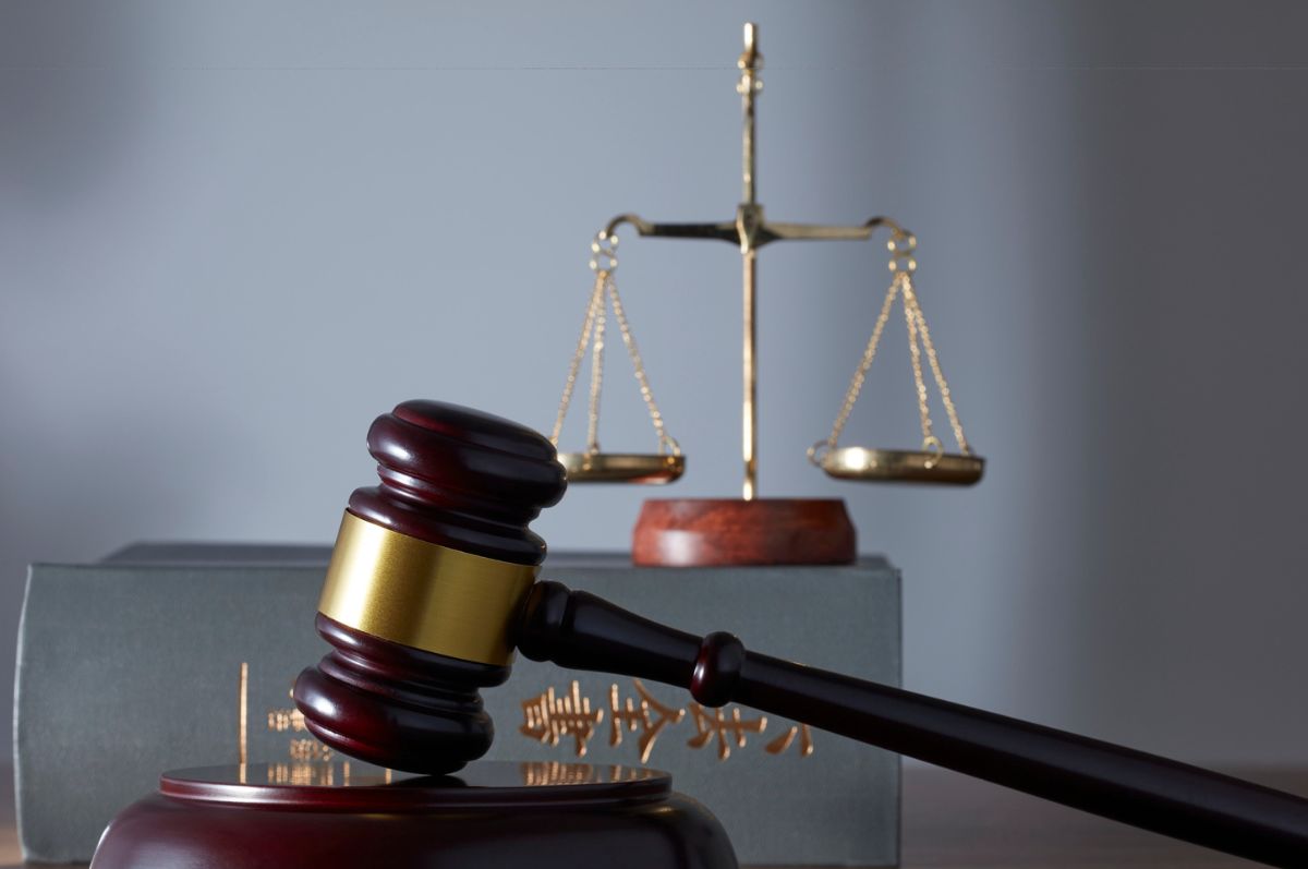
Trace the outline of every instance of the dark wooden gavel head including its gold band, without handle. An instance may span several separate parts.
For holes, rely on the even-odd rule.
[[[415,400],[368,432],[381,484],[349,499],[317,627],[332,645],[296,681],[309,730],[395,770],[445,773],[490,747],[477,690],[509,678],[511,623],[562,497],[555,448],[509,420]]]

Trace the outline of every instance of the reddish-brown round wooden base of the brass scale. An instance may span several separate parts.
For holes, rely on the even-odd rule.
[[[854,526],[840,499],[650,499],[632,534],[640,567],[853,564]]]

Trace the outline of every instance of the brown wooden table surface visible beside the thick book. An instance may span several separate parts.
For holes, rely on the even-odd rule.
[[[1236,775],[1308,796],[1308,771],[1245,770]],[[0,798],[0,869],[24,865],[9,787]],[[1236,869],[1257,864],[943,770],[912,767],[904,771],[901,865],[904,869]]]

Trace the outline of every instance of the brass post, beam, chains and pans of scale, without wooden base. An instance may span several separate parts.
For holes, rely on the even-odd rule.
[[[742,493],[744,500],[752,500],[757,491],[755,308],[759,249],[773,241],[867,241],[883,226],[891,233],[887,247],[891,251],[889,270],[893,274],[893,279],[882,305],[880,315],[872,328],[872,336],[869,339],[863,357],[850,380],[844,404],[836,416],[832,432],[827,438],[814,444],[808,449],[808,459],[829,476],[842,480],[952,486],[971,486],[977,483],[985,471],[985,459],[972,454],[967,437],[963,433],[963,425],[959,421],[950,387],[940,369],[939,356],[935,352],[930,331],[926,326],[926,317],[922,314],[917,293],[913,288],[913,272],[917,270],[914,258],[917,247],[916,237],[888,217],[874,217],[861,226],[768,222],[764,219],[763,205],[756,202],[755,187],[755,97],[763,89],[763,81],[759,77],[759,71],[763,68],[763,55],[759,52],[757,27],[753,24],[744,25],[744,51],[736,65],[740,69],[740,81],[736,85],[736,92],[742,98],[744,119],[742,137],[744,195],[742,203],[736,207],[735,220],[718,224],[655,224],[628,213],[612,219],[591,242],[590,268],[595,274],[595,283],[586,306],[581,338],[568,369],[568,378],[564,385],[564,394],[560,399],[559,414],[551,437],[557,445],[577,383],[581,363],[589,347],[591,349],[591,380],[587,446],[585,450],[559,453],[559,461],[566,469],[569,480],[574,483],[666,484],[676,480],[685,472],[685,457],[681,454],[676,440],[664,428],[662,414],[650,390],[649,378],[645,373],[645,365],[637,349],[636,339],[627,321],[621,296],[613,281],[613,271],[617,268],[616,253],[619,239],[616,232],[619,226],[628,224],[636,229],[638,236],[718,239],[738,245],[740,249],[744,289],[744,400],[742,414],[742,453],[744,462]],[[900,298],[904,304],[918,412],[922,424],[922,449],[899,450],[840,446],[840,434],[858,399],[867,369],[876,355],[882,332],[896,298]],[[610,308],[612,308],[613,319],[617,321],[623,343],[636,369],[636,380],[641,389],[641,397],[649,410],[650,420],[658,437],[657,453],[607,453],[599,448],[599,398],[603,383],[604,331]],[[933,432],[922,370],[923,355],[927,359],[942,403],[950,417],[950,424],[959,446],[956,453],[946,453],[940,440]]]

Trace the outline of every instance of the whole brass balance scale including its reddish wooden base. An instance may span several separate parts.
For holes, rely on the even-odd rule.
[[[685,455],[667,432],[663,415],[650,387],[645,364],[623,308],[617,283],[617,230],[632,226],[638,236],[655,238],[710,238],[739,245],[744,289],[744,402],[742,454],[744,483],[740,499],[651,499],[645,501],[633,535],[633,560],[642,565],[722,565],[722,564],[848,564],[857,548],[853,525],[838,499],[760,499],[757,497],[757,365],[755,355],[759,249],[774,241],[869,241],[887,230],[891,283],[836,414],[831,433],[808,448],[808,461],[829,476],[855,482],[901,482],[972,486],[981,479],[985,459],[972,453],[940,357],[926,325],[926,315],[913,285],[917,271],[917,238],[889,217],[872,217],[855,226],[780,224],[764,220],[763,205],[755,196],[755,98],[763,89],[759,71],[759,29],[744,25],[744,52],[736,62],[744,115],[743,164],[744,198],[735,220],[719,224],[655,224],[636,215],[613,217],[591,242],[590,268],[595,275],[586,304],[577,349],[568,368],[559,415],[551,440],[557,446],[564,420],[572,404],[578,374],[587,349],[591,357],[590,402],[586,449],[560,452],[559,461],[572,483],[664,484],[685,471]],[[922,445],[917,450],[840,446],[840,437],[854,410],[863,381],[895,302],[901,302],[908,328],[913,383],[917,394]],[[636,369],[636,382],[649,410],[658,441],[654,453],[607,453],[599,446],[599,403],[603,387],[604,338],[608,314],[617,323],[623,344]],[[957,452],[946,452],[934,432],[922,357],[935,381],[940,403],[954,433]]]

